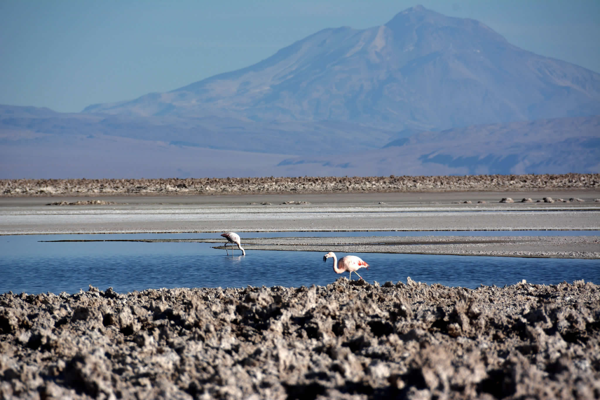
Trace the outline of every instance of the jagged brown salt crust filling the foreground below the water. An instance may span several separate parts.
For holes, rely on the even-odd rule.
[[[600,395],[600,287],[326,287],[0,296],[0,398]]]

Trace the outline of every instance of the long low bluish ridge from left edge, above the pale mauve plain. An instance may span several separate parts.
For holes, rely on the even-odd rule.
[[[10,135],[9,135],[10,133]],[[163,142],[167,145],[274,154],[330,154],[377,149],[410,132],[352,122],[254,122],[233,118],[140,117],[57,113],[0,105],[0,145],[32,135],[98,135]],[[40,136],[41,135],[41,136]]]

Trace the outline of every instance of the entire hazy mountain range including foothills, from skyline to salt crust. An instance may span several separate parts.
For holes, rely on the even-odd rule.
[[[418,6],[171,92],[0,106],[0,179],[597,173],[598,115],[600,74]]]

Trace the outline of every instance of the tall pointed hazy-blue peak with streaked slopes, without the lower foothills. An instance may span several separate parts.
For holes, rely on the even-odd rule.
[[[417,6],[323,29],[241,70],[85,113],[346,121],[395,131],[600,114],[600,74]]]

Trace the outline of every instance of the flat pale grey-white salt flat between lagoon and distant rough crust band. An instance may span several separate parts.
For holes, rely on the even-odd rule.
[[[503,197],[585,200],[499,203]],[[599,230],[598,190],[461,193],[0,198],[0,234],[210,231]],[[85,199],[95,199],[86,197]],[[282,204],[295,201],[299,204]],[[303,203],[303,202],[306,203]],[[472,201],[470,204],[459,203]],[[486,201],[486,203],[477,203]],[[261,204],[269,203],[269,204]]]

